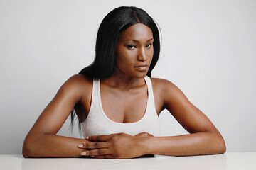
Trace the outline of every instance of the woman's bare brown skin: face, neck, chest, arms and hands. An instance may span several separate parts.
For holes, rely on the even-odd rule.
[[[142,23],[119,36],[114,74],[100,81],[102,107],[110,120],[134,123],[143,117],[147,100],[144,77],[154,54],[153,41],[151,29]],[[165,79],[151,78],[151,82],[156,113],[167,109],[190,134],[154,137],[146,132],[135,136],[118,133],[86,139],[56,135],[74,107],[80,122],[90,110],[92,80],[76,74],[60,87],[28,132],[23,157],[134,158],[225,152],[220,132],[177,86]]]

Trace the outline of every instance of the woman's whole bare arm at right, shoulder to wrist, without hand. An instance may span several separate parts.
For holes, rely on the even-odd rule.
[[[159,81],[164,108],[174,115],[178,123],[190,134],[142,139],[146,152],[174,156],[223,154],[225,152],[223,137],[206,115],[193,106],[177,86],[166,80],[159,79]]]

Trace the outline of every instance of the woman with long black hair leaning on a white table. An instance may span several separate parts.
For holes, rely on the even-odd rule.
[[[28,132],[23,156],[224,153],[223,137],[206,115],[170,81],[149,78],[159,51],[158,28],[145,11],[119,7],[108,13],[98,30],[95,61],[60,87]],[[85,139],[56,135],[73,108]],[[158,116],[164,109],[190,134],[159,137]]]

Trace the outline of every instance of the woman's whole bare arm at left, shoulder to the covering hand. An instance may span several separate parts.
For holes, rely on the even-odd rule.
[[[56,133],[80,101],[85,90],[82,75],[70,77],[46,106],[23,142],[23,157],[80,157],[77,146],[87,140],[58,136]],[[91,89],[87,89],[91,91]],[[89,93],[89,92],[88,92]]]

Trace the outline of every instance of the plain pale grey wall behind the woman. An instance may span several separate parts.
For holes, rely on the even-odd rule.
[[[256,1],[0,0],[0,154],[21,154],[43,108],[92,62],[97,28],[118,6],[144,8],[161,28],[153,77],[176,84],[228,152],[256,152]],[[160,119],[162,135],[187,133],[168,111]],[[69,125],[58,134],[82,137]]]

